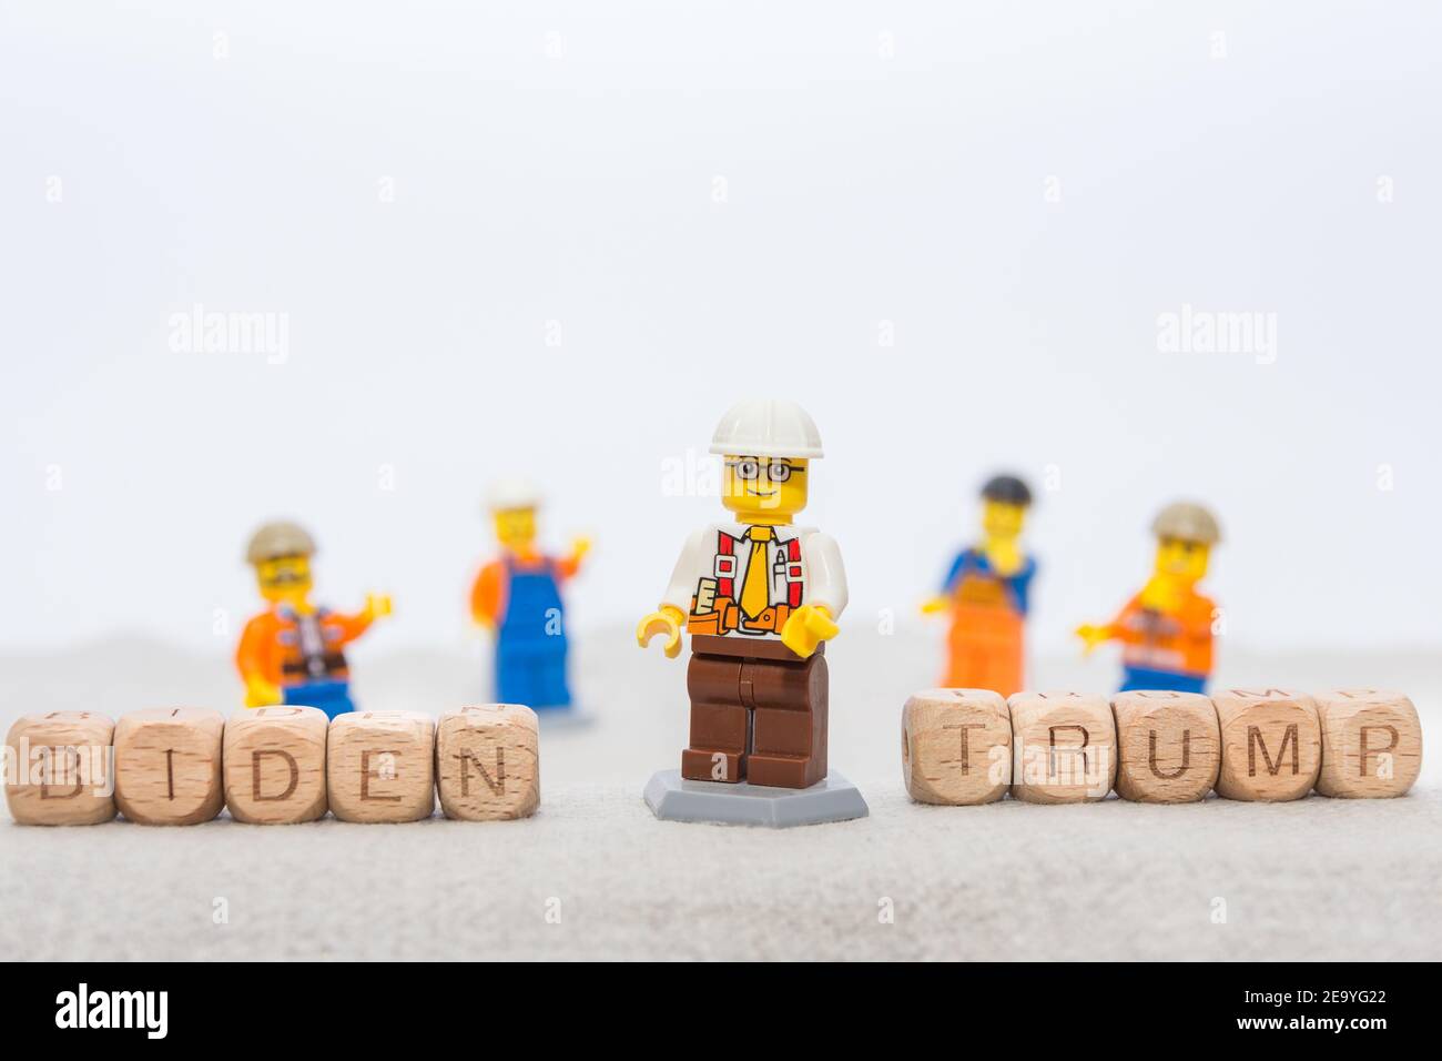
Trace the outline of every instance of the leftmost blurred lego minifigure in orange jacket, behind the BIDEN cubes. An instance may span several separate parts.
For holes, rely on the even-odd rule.
[[[391,598],[371,593],[355,615],[317,608],[310,602],[314,551],[294,523],[268,523],[251,537],[245,559],[270,608],[245,624],[235,651],[247,707],[306,704],[332,719],[355,710],[345,647],[391,614]]]

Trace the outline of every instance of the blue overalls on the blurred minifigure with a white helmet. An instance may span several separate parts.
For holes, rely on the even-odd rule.
[[[549,560],[522,570],[506,560],[506,616],[496,631],[496,700],[535,710],[570,707],[561,589]],[[547,632],[548,628],[555,632]]]

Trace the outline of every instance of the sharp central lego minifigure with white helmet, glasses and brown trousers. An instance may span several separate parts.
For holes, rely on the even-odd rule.
[[[645,648],[663,634],[675,658],[682,626],[691,634],[682,778],[809,788],[826,777],[823,642],[846,608],[836,543],[792,525],[820,435],[790,401],[743,401],[711,452],[724,459],[721,502],[735,521],[691,536],[636,641]]]

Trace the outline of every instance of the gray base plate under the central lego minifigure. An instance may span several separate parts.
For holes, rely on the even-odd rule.
[[[836,771],[810,788],[767,788],[746,781],[685,781],[679,769],[663,769],[646,784],[646,805],[663,821],[770,829],[846,821],[868,813],[861,791]]]

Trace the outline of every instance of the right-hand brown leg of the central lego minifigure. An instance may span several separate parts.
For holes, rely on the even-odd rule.
[[[748,660],[741,699],[756,707],[747,780],[754,785],[810,788],[826,777],[826,660]]]

